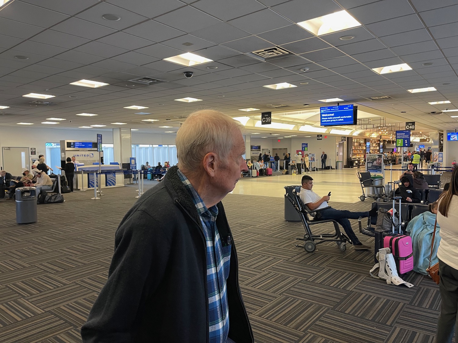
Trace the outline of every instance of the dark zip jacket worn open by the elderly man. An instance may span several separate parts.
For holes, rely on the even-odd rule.
[[[121,221],[108,281],[81,329],[84,343],[205,343],[208,333],[206,244],[176,166]],[[223,204],[216,225],[232,237]],[[253,343],[232,241],[227,295],[229,338]]]

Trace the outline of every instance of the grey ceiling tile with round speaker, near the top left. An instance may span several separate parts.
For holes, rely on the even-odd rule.
[[[102,18],[102,16],[107,13],[120,16],[121,19],[117,21],[105,20],[104,18]],[[111,27],[116,30],[122,30],[126,27],[135,25],[140,21],[147,20],[147,17],[145,16],[140,16],[131,11],[127,11],[120,7],[110,5],[106,2],[100,2],[98,5],[93,6],[82,13],[77,14],[76,17],[87,21],[91,21],[99,25]]]

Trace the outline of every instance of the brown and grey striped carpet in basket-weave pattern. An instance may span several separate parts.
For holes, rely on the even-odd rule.
[[[65,194],[63,204],[38,205],[39,221],[28,225],[16,224],[13,201],[0,201],[1,343],[81,342],[79,328],[105,283],[114,232],[136,189],[106,189],[100,200]],[[369,276],[372,251],[295,247],[304,228],[284,221],[282,198],[229,194],[224,205],[256,343],[433,342],[440,296],[430,279],[411,272],[405,279],[414,288],[387,285]]]

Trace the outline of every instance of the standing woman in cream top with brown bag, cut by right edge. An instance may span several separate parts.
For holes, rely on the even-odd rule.
[[[441,243],[437,249],[441,282],[441,314],[437,322],[436,343],[452,342],[458,309],[458,169],[450,188],[439,199],[437,224],[441,226]]]

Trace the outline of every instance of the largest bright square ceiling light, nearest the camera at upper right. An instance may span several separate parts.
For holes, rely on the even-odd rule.
[[[318,18],[298,22],[297,25],[312,32],[316,36],[321,36],[331,32],[346,30],[350,27],[361,26],[361,23],[350,16],[347,11],[320,16]]]

